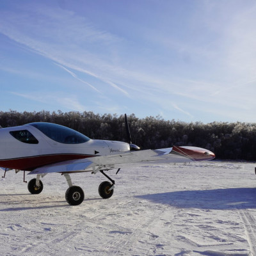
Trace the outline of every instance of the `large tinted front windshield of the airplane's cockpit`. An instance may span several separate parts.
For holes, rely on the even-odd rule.
[[[90,140],[84,134],[58,124],[38,122],[29,125],[36,127],[50,139],[64,144],[80,144]]]

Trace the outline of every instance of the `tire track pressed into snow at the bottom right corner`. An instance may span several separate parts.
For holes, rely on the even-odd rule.
[[[248,210],[239,210],[239,215],[244,223],[245,234],[247,237],[248,244],[250,245],[250,250],[252,255],[256,255],[256,221],[252,214]]]

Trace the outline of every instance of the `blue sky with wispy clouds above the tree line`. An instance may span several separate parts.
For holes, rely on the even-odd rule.
[[[256,2],[0,1],[0,111],[256,122]]]

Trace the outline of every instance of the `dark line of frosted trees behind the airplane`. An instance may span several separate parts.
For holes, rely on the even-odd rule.
[[[166,148],[195,146],[207,148],[216,159],[256,160],[256,124],[244,122],[181,122],[164,120],[161,116],[137,118],[128,115],[132,143],[141,147]],[[124,115],[95,114],[70,111],[17,112],[0,111],[1,127],[12,127],[31,122],[51,122],[65,125],[89,138],[99,140],[127,141]],[[128,141],[127,141],[128,142]]]

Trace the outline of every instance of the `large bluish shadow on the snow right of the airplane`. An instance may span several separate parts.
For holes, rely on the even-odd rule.
[[[136,197],[180,208],[256,209],[256,188],[173,191]]]

